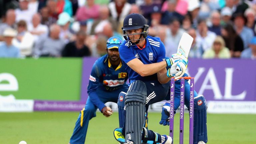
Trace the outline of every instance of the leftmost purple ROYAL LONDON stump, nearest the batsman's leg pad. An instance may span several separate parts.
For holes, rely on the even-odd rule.
[[[174,86],[175,80],[171,79],[171,94],[170,94],[170,137],[173,138],[173,123],[174,123]]]

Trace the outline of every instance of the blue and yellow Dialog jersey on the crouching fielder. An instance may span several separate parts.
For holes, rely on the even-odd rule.
[[[92,67],[87,93],[93,103],[101,110],[105,105],[100,101],[99,97],[113,97],[111,92],[127,89],[127,79],[127,71],[122,61],[114,69],[106,54],[97,59]]]

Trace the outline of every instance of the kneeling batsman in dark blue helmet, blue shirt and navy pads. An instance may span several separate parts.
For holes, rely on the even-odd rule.
[[[181,77],[187,68],[187,58],[176,53],[165,59],[165,47],[160,38],[148,35],[146,19],[132,13],[123,22],[125,40],[119,46],[120,58],[128,72],[127,93],[119,94],[119,125],[114,136],[126,144],[171,144],[172,138],[144,128],[150,104],[162,101],[168,94],[170,77]],[[170,67],[166,69],[166,67]]]

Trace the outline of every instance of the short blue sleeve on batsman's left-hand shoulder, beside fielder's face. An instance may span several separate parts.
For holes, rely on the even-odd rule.
[[[133,55],[133,52],[131,49],[124,45],[120,45],[119,48],[119,54],[120,58],[125,62],[128,63],[129,61],[135,59],[136,57]]]

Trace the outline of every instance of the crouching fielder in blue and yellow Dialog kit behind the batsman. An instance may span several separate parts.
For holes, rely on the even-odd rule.
[[[121,91],[127,91],[127,71],[123,65],[118,47],[122,40],[118,37],[111,37],[107,40],[107,54],[100,57],[93,65],[88,85],[88,99],[85,108],[81,110],[70,144],[84,144],[89,120],[96,117],[96,110],[99,109],[104,116],[112,114],[110,107],[105,106],[106,102],[118,101]]]

